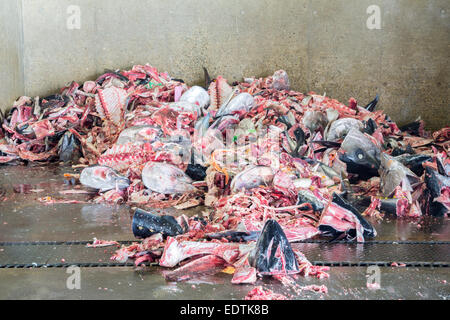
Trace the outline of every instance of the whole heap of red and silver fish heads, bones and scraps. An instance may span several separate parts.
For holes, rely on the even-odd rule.
[[[204,71],[204,87],[136,65],[21,97],[2,115],[0,163],[82,167],[93,201],[139,208],[142,242],[113,259],[179,266],[170,281],[223,270],[233,283],[326,277],[290,243],[363,242],[384,215],[448,215],[450,127],[399,128],[378,96],[346,105],[303,94],[283,70],[233,84]],[[198,205],[200,216],[155,211]]]

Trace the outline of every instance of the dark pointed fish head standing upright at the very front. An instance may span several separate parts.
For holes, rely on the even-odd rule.
[[[289,240],[278,222],[273,219],[264,224],[256,247],[249,255],[249,262],[262,275],[300,272]]]

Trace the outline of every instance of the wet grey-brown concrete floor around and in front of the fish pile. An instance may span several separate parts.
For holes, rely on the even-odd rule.
[[[17,245],[5,242],[134,240],[126,206],[91,203],[44,205],[44,196],[87,200],[86,195],[63,196],[71,189],[67,167],[0,167],[0,265],[26,263],[107,262],[114,247],[84,245]],[[16,191],[14,191],[16,190]],[[18,193],[22,190],[25,193]],[[449,219],[420,222],[385,219],[374,223],[376,240],[450,241]],[[295,244],[311,261],[450,261],[450,243],[429,244]],[[65,268],[0,269],[0,299],[242,299],[253,286],[235,286],[227,274],[185,283],[167,283],[161,268],[82,268],[81,289],[70,290]],[[366,286],[367,268],[333,267],[330,278],[298,279],[300,285],[324,284],[328,294],[290,292],[278,281],[264,279],[277,293],[294,299],[449,299],[449,268],[380,268],[380,290]]]

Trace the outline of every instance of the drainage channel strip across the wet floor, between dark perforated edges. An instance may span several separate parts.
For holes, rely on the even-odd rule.
[[[121,245],[139,240],[118,241]],[[82,268],[134,267],[133,262],[110,262],[117,247],[85,248],[92,241],[0,242],[0,269],[12,268]],[[378,240],[356,243],[305,240],[292,244],[316,266],[328,267],[450,267],[450,241]],[[111,252],[106,252],[108,249]],[[96,251],[97,250],[97,251]],[[98,254],[98,256],[97,256]],[[61,257],[65,259],[62,262]],[[102,259],[97,259],[97,258]],[[25,261],[24,261],[25,260]],[[72,260],[73,262],[70,262]],[[99,261],[96,261],[99,260]],[[66,262],[68,261],[68,262]],[[141,266],[157,266],[144,263]]]

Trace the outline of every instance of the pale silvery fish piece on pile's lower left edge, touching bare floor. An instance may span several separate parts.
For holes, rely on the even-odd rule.
[[[94,165],[81,171],[80,183],[103,192],[115,188],[126,189],[130,185],[130,180],[110,167]]]

